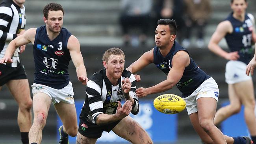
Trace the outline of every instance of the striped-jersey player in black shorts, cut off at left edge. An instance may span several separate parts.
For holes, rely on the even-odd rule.
[[[22,35],[25,30],[25,0],[2,0],[0,4],[0,59],[4,57],[9,42]],[[20,46],[13,55],[13,63],[0,65],[0,90],[7,85],[19,105],[18,124],[23,144],[28,144],[28,132],[31,127],[32,99],[25,68],[20,63],[19,53],[25,50]]]

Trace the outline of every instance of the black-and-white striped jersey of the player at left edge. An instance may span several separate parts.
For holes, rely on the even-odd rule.
[[[17,37],[26,24],[25,7],[20,8],[13,0],[2,0],[0,4],[0,58],[4,57],[9,42]],[[20,63],[19,48],[13,54],[13,63],[6,64],[17,67]]]

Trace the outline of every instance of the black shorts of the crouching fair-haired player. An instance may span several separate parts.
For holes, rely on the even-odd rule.
[[[102,126],[95,126],[95,124],[89,122],[81,122],[80,120],[78,132],[88,138],[100,138],[103,131],[109,133],[109,131],[111,131],[120,121],[121,120]]]

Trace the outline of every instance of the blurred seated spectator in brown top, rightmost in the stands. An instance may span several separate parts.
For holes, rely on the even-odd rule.
[[[192,29],[196,28],[197,40],[196,46],[203,48],[204,42],[204,28],[207,20],[210,18],[211,4],[210,0],[184,0],[185,2],[185,28],[182,46],[189,48]]]

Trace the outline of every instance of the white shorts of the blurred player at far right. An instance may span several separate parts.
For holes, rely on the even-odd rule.
[[[226,63],[225,72],[226,83],[234,84],[252,79],[250,75],[247,76],[245,74],[246,66],[247,65],[241,61],[228,61],[228,63]]]

